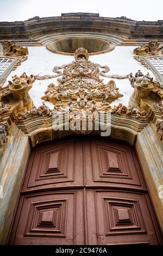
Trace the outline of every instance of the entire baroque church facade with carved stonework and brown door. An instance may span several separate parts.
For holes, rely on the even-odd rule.
[[[1,245],[162,245],[163,21],[0,22]]]

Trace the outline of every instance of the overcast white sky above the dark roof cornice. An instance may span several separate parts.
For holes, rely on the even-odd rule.
[[[132,20],[163,20],[163,0],[0,0],[0,21],[24,21],[61,13],[99,13]]]

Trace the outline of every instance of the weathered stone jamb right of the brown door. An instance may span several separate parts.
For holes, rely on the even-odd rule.
[[[136,151],[163,230],[163,198],[159,198],[159,188],[163,185],[163,145],[156,137],[154,124],[148,124],[137,136]]]

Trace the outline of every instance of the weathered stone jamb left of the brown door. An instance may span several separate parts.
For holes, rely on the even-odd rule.
[[[18,193],[28,160],[30,145],[27,136],[15,124],[10,127],[10,137],[0,162],[0,185],[3,198],[0,199],[0,244],[4,245],[14,214]]]

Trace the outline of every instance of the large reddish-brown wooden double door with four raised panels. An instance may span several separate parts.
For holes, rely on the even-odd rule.
[[[133,148],[74,137],[32,151],[9,244],[162,243]]]

